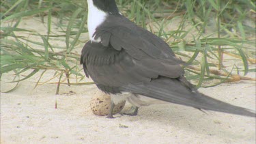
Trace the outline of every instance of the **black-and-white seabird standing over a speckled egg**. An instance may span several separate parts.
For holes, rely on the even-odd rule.
[[[136,106],[154,100],[255,117],[255,112],[199,93],[184,77],[171,48],[161,38],[132,23],[119,12],[115,0],[87,0],[89,41],[83,47],[81,64],[87,77],[115,104],[128,100]],[[145,99],[148,98],[148,99]]]

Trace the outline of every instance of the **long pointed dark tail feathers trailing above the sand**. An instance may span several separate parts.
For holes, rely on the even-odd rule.
[[[188,87],[184,87],[180,81],[173,80],[173,78],[160,78],[147,84],[128,85],[124,90],[132,91],[133,93],[138,93],[150,98],[156,98],[158,100],[192,106],[196,109],[219,111],[248,117],[256,116],[255,111],[205,96],[197,90],[191,90],[188,89]]]

